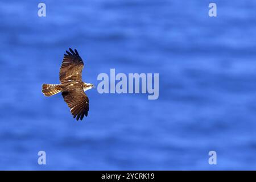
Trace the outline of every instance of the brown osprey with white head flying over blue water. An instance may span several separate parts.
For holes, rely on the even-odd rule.
[[[64,54],[60,68],[60,84],[43,84],[42,92],[44,96],[52,96],[61,92],[64,101],[67,102],[73,118],[82,120],[84,115],[87,117],[89,110],[89,99],[85,94],[86,90],[94,88],[93,84],[82,81],[82,62],[79,53],[69,48]]]

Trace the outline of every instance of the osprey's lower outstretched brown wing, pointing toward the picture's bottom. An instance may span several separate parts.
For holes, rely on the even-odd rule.
[[[74,90],[64,91],[61,93],[64,101],[67,102],[73,118],[76,117],[78,121],[79,118],[82,120],[84,115],[87,117],[89,110],[89,99],[81,88],[76,88]]]

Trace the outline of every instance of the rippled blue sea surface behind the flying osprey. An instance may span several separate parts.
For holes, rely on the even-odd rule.
[[[44,1],[42,18],[39,1],[0,2],[0,169],[256,169],[256,1],[215,2],[216,18],[210,1]],[[94,85],[159,73],[159,99],[92,89],[73,120],[41,93],[69,47]]]

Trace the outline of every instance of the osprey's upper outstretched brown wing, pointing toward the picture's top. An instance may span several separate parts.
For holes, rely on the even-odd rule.
[[[69,48],[64,54],[64,58],[60,68],[60,82],[64,84],[69,81],[81,81],[82,80],[82,68],[84,68],[84,62],[82,62],[79,53]]]

